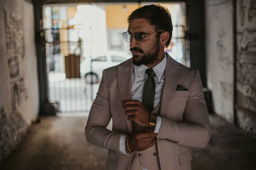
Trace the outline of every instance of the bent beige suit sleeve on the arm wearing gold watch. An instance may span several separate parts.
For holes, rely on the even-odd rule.
[[[209,114],[198,71],[195,71],[183,120],[176,122],[163,116],[157,138],[190,147],[206,147],[210,138]]]

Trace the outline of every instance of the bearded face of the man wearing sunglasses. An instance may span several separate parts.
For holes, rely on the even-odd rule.
[[[137,32],[144,35],[143,41],[140,43],[136,42],[134,37],[131,38],[130,51],[134,65],[150,65],[156,62],[160,51],[160,42],[156,37],[157,33],[154,26],[151,26],[145,19],[134,19],[129,23],[128,32],[130,34]]]

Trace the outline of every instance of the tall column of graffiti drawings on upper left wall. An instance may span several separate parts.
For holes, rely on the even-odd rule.
[[[6,49],[12,95],[12,110],[15,111],[26,99],[27,90],[24,82],[24,35],[21,15],[5,13]]]

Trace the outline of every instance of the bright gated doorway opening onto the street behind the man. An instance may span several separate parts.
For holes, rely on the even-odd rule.
[[[122,38],[128,15],[147,3],[47,5],[43,8],[49,102],[61,113],[88,113],[105,68],[131,58]],[[165,51],[183,65],[186,53],[186,4],[165,3],[173,22]]]

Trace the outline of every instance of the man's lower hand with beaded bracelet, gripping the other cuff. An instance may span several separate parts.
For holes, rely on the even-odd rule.
[[[155,144],[157,133],[153,130],[133,133],[129,138],[129,147],[131,150],[143,151]]]

